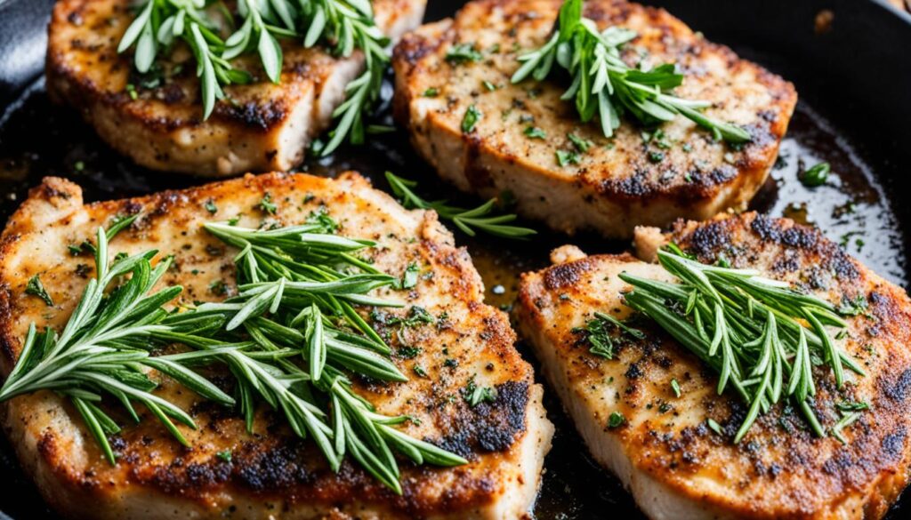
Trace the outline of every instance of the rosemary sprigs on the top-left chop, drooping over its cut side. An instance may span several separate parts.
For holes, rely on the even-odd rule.
[[[301,37],[304,47],[322,44],[343,57],[360,49],[366,69],[345,88],[345,101],[333,112],[338,122],[319,153],[332,153],[346,137],[354,144],[363,143],[363,113],[378,99],[389,63],[389,40],[375,25],[369,0],[239,0],[228,20],[210,15],[209,7],[206,0],[147,0],[120,40],[118,52],[135,46],[134,64],[145,74],[161,52],[182,40],[196,60],[203,118],[208,119],[215,101],[225,97],[222,87],[252,79],[246,71],[231,66],[230,61],[238,56],[255,51],[266,76],[279,83],[279,38]],[[239,27],[222,40],[234,17]]]

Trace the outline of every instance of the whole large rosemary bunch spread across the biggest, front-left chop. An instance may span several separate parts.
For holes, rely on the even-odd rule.
[[[117,229],[125,227],[125,220],[115,224]],[[333,471],[351,454],[401,494],[394,453],[416,464],[466,464],[462,457],[396,430],[394,425],[409,417],[376,413],[353,391],[349,373],[377,382],[407,379],[390,360],[389,347],[354,308],[398,306],[367,295],[395,281],[353,256],[374,242],[334,235],[337,225],[324,213],[313,214],[301,226],[279,229],[217,222],[205,227],[241,250],[235,259],[238,296],[164,311],[161,306],[180,288],[148,291],[168,270],[169,260],[152,269],[155,251],[149,251],[108,265],[109,231],[99,229],[97,278],[89,280],[59,337],[53,331],[38,333],[32,325],[19,361],[0,389],[0,401],[38,390],[66,395],[114,464],[107,435],[118,433],[119,426],[99,407],[102,393],[118,399],[137,421],[132,403],[144,404],[186,444],[171,419],[190,427],[192,420],[151,393],[156,383],[146,372],[155,369],[206,399],[232,405],[234,398],[188,368],[223,363],[237,382],[236,401],[249,430],[259,397],[284,414],[294,433],[312,437]],[[124,279],[105,296],[107,286]],[[159,344],[193,350],[150,357],[148,346]]]

